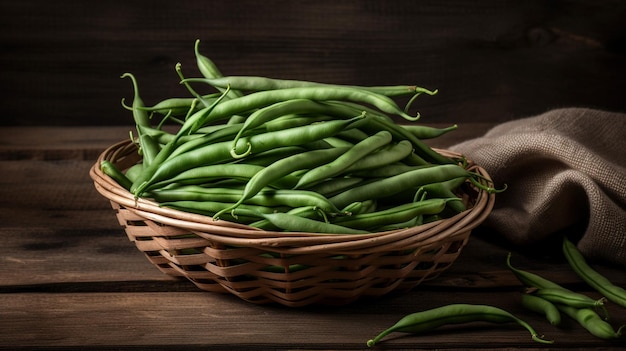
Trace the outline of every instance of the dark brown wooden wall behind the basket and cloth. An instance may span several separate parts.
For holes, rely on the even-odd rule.
[[[438,88],[425,122],[624,111],[626,1],[2,1],[4,126],[128,125],[186,96],[193,45],[224,74]]]

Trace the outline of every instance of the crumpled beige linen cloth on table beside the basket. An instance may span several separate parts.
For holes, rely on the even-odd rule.
[[[588,259],[626,266],[626,114],[557,109],[450,149],[508,185],[487,227],[517,245],[569,233]]]

